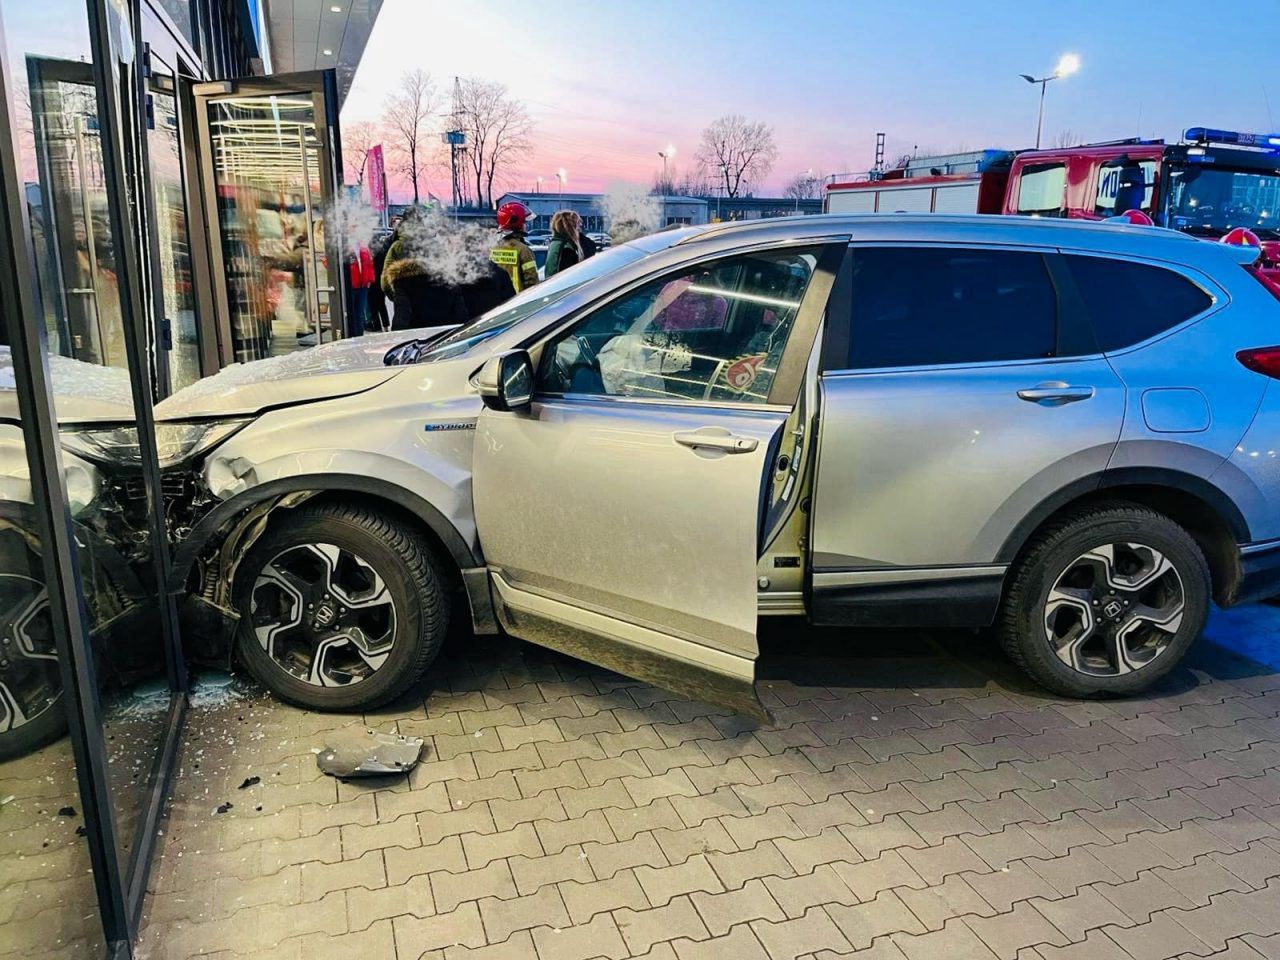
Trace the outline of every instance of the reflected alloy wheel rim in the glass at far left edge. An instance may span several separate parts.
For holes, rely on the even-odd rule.
[[[31,723],[60,695],[49,593],[38,580],[0,573],[0,733]]]

